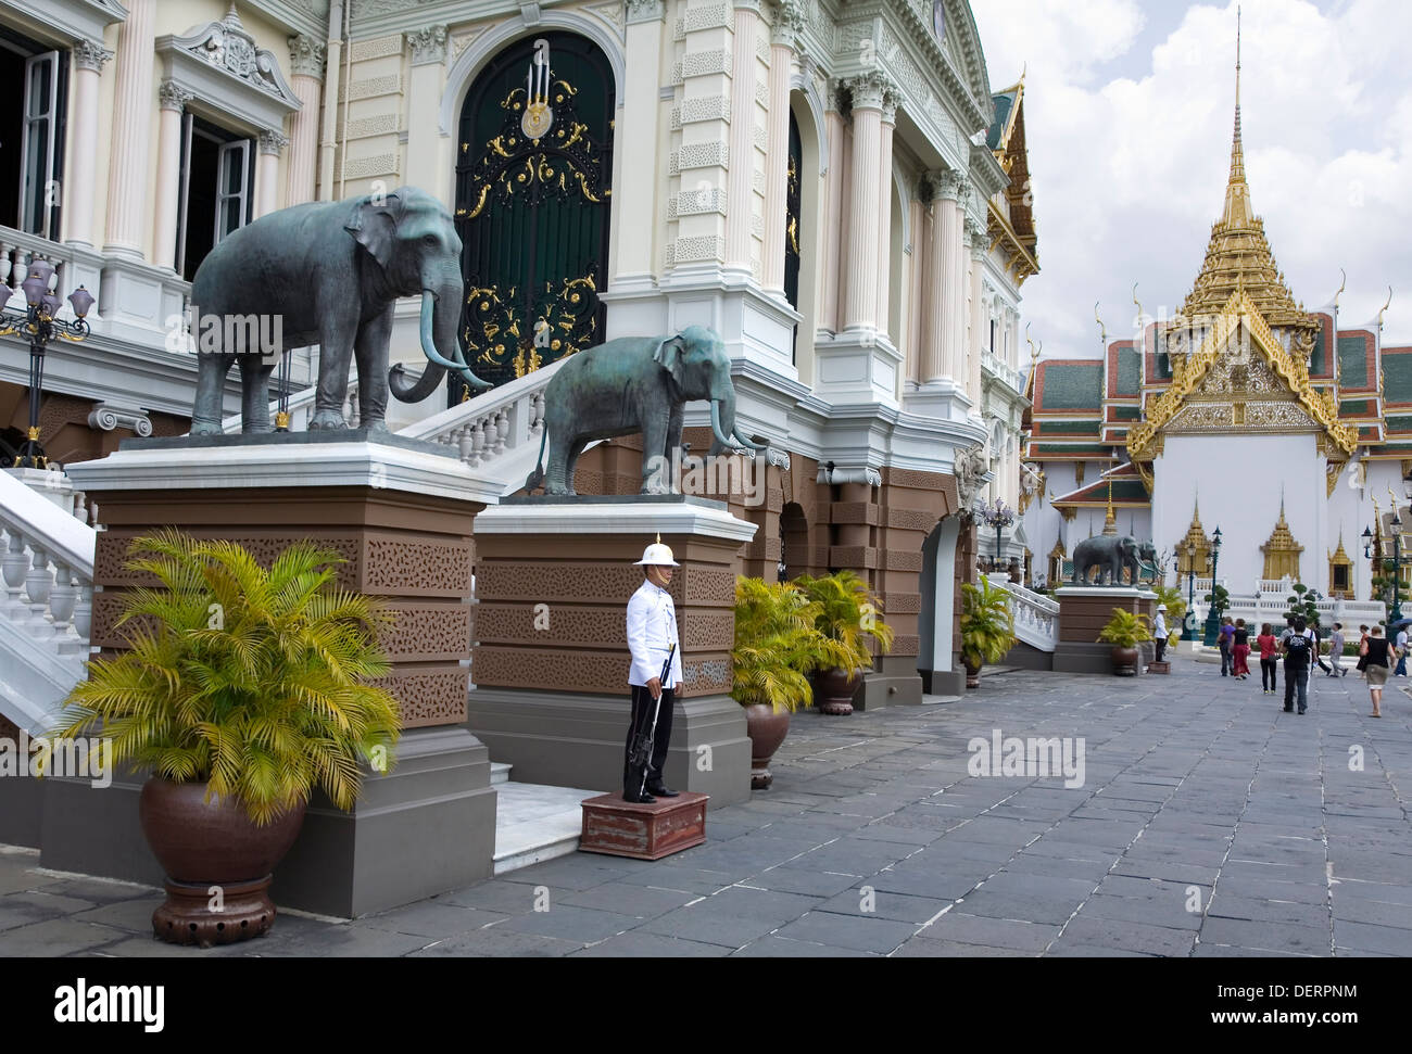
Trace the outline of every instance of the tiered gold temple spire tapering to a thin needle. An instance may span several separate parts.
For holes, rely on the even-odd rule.
[[[1317,330],[1319,323],[1295,303],[1285,275],[1265,238],[1265,222],[1255,216],[1245,182],[1245,151],[1240,130],[1240,44],[1236,45],[1236,134],[1231,143],[1231,171],[1226,183],[1226,207],[1211,224],[1211,240],[1196,285],[1182,305],[1182,315],[1216,315],[1237,289],[1244,289],[1274,327]]]

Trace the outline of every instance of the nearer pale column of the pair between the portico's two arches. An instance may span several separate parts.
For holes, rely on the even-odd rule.
[[[864,73],[853,87],[853,164],[849,185],[849,244],[844,262],[843,325],[877,326],[878,151],[882,147],[884,80]]]

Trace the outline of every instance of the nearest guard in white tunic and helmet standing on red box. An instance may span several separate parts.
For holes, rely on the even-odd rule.
[[[633,652],[633,667],[627,683],[633,689],[633,720],[627,729],[627,751],[623,763],[623,797],[628,801],[655,801],[676,797],[676,792],[662,782],[662,765],[672,742],[672,707],[676,689],[682,683],[682,649],[676,639],[676,608],[666,587],[672,584],[672,569],[681,567],[661,536],[642,553],[635,567],[644,567],[647,580],[627,602],[627,646]],[[672,645],[672,665],[662,683],[662,663]],[[658,705],[661,697],[661,705]],[[652,758],[647,766],[647,790],[642,790],[642,769],[633,766],[633,741],[652,727],[657,714],[657,734],[652,737]],[[654,797],[655,794],[655,797]]]

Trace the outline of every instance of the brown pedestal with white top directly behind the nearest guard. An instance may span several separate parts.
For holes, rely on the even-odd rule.
[[[479,641],[467,727],[515,779],[621,792],[630,718],[627,602],[661,535],[682,642],[665,782],[750,797],[746,711],[730,697],[736,576],[757,526],[688,495],[507,498],[476,518]]]

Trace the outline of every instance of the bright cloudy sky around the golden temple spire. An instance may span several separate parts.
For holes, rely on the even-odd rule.
[[[1412,3],[1240,0],[1245,172],[1306,309],[1348,272],[1340,326],[1412,341]],[[1025,78],[1041,274],[1024,315],[1043,357],[1096,357],[1138,299],[1180,308],[1230,171],[1236,7],[1182,0],[974,0],[993,89]]]

